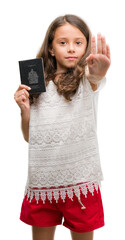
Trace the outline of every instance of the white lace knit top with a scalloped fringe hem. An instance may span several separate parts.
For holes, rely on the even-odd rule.
[[[30,109],[26,194],[45,202],[94,192],[103,179],[96,132],[98,90],[83,78],[72,101],[50,81]]]

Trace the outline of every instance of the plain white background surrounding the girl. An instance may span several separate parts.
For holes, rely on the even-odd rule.
[[[82,17],[92,33],[101,32],[111,48],[107,84],[100,92],[98,139],[104,182],[105,227],[95,240],[123,239],[125,227],[125,15],[124,1],[7,1],[0,6],[0,219],[2,240],[31,239],[30,226],[19,220],[27,179],[28,144],[20,130],[14,92],[20,84],[18,61],[35,58],[48,25],[57,16]],[[58,226],[55,240],[70,239]]]

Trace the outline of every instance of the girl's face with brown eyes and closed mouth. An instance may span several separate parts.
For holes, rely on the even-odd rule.
[[[87,46],[84,34],[75,26],[66,23],[55,31],[50,53],[55,56],[57,71],[74,68],[83,57]]]

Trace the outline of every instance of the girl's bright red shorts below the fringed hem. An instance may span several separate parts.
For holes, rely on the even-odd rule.
[[[66,197],[65,202],[59,199],[58,203],[47,199],[45,203],[40,199],[38,204],[35,198],[27,200],[25,196],[20,220],[26,224],[37,227],[50,227],[62,224],[74,232],[89,232],[104,226],[104,212],[100,189],[89,191],[87,198],[81,193],[81,202],[86,207],[82,209],[78,198],[73,196],[73,201]]]

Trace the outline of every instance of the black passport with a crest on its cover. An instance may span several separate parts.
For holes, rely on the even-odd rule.
[[[46,92],[43,58],[19,61],[21,84],[31,87],[29,93]]]

